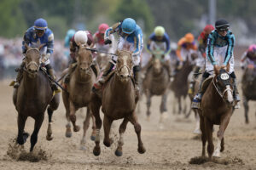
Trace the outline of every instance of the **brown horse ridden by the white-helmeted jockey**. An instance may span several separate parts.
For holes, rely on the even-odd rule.
[[[76,125],[76,111],[79,108],[87,107],[87,113],[84,120],[84,135],[81,140],[81,148],[84,149],[86,131],[90,125],[90,117],[93,122],[93,132],[91,139],[95,139],[95,121],[90,111],[91,88],[96,82],[96,73],[92,70],[92,54],[85,46],[79,47],[77,55],[78,64],[70,75],[70,82],[67,85],[67,92],[62,92],[63,103],[66,108],[67,130],[66,137],[71,137],[71,125],[73,123],[73,131],[78,132],[80,127]],[[65,71],[64,71],[65,72]]]

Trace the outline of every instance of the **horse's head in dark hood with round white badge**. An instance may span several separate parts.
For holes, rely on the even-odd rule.
[[[218,94],[227,102],[228,105],[233,104],[233,79],[224,69],[215,71],[217,77],[214,78],[214,85]]]

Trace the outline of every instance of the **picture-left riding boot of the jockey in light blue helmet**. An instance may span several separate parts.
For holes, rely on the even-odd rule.
[[[106,82],[108,74],[112,71],[113,66],[114,65],[112,62],[108,62],[108,64],[106,65],[106,67],[102,73],[102,77],[96,83],[94,83],[92,91],[97,91],[97,90],[102,89],[102,85]]]

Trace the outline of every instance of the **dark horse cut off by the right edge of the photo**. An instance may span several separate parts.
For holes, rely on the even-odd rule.
[[[243,106],[245,111],[245,122],[249,123],[248,111],[249,100],[256,100],[256,65],[247,65],[247,69],[244,71],[241,79],[241,90],[243,94]],[[256,114],[256,112],[255,112]]]

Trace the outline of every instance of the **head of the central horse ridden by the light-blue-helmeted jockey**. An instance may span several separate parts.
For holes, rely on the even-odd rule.
[[[132,56],[131,52],[121,50],[117,51],[118,59],[116,62],[117,75],[121,81],[128,81],[131,77]]]

